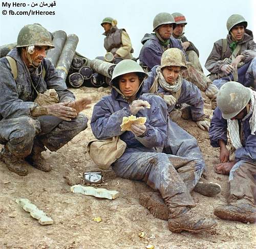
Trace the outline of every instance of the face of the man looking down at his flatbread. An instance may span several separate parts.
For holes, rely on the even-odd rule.
[[[139,76],[135,73],[123,74],[120,76],[119,89],[125,97],[132,97],[137,92],[140,81]]]

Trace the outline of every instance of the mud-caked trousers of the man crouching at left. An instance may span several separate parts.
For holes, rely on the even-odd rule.
[[[0,121],[0,144],[6,144],[9,151],[18,157],[31,153],[34,139],[49,150],[56,151],[86,129],[87,122],[84,114],[79,114],[72,121],[63,121],[54,116],[3,119]]]

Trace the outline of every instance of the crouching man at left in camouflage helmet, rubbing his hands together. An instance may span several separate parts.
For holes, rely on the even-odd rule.
[[[45,28],[27,25],[18,34],[17,48],[1,58],[0,159],[19,175],[28,174],[28,165],[50,171],[41,152],[58,150],[87,128],[88,118],[79,111],[90,99],[75,101],[45,58],[51,48]]]

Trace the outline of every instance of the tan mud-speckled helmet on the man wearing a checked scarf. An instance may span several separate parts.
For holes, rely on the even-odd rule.
[[[167,49],[161,57],[161,69],[165,66],[180,66],[182,69],[186,69],[186,57],[180,49]]]

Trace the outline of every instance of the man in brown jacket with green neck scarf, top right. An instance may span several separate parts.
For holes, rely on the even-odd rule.
[[[210,79],[220,88],[230,80],[244,86],[256,87],[256,43],[247,21],[239,14],[227,19],[228,35],[214,43],[205,67],[211,73]]]

